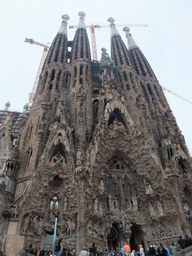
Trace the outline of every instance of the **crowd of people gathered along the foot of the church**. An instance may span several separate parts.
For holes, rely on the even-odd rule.
[[[116,250],[106,250],[104,252],[97,251],[95,244],[92,245],[91,248],[83,248],[82,251],[76,253],[75,250],[66,250],[63,248],[61,250],[61,241],[62,238],[58,238],[55,242],[54,256],[171,256],[171,254],[175,254],[178,252],[177,246],[172,243],[170,248],[166,245],[160,244],[159,246],[150,245],[148,250],[145,252],[142,245],[139,245],[138,250],[131,250],[131,247],[124,243],[124,246],[121,249]],[[178,244],[180,250],[183,250],[192,245],[192,238],[188,235],[185,238],[182,236],[179,237]],[[45,252],[44,249],[40,249],[39,253],[32,248],[32,244],[26,249],[26,252],[36,255],[36,256],[52,256],[52,252]]]

